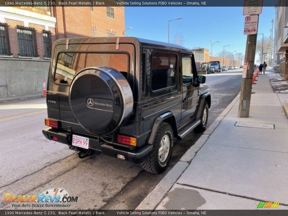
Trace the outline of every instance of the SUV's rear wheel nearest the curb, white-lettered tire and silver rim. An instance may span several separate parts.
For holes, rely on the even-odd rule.
[[[165,142],[165,140],[167,140]],[[169,142],[169,143],[167,143]],[[151,154],[142,162],[142,167],[144,170],[150,173],[159,174],[162,173],[169,165],[171,155],[173,152],[173,129],[171,125],[162,122],[158,128],[157,134],[155,136],[155,140],[153,143],[153,149]],[[163,145],[166,145],[166,150],[164,151],[164,155],[162,154],[159,157],[159,150]],[[168,147],[169,146],[169,147]],[[167,152],[165,154],[165,152]]]

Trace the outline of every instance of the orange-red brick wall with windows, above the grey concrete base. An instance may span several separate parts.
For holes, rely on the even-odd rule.
[[[14,58],[22,56],[49,58],[52,44],[56,39],[121,37],[125,30],[124,7],[49,7],[45,10],[36,7],[15,8],[15,11],[21,9],[39,16],[55,17],[55,28],[35,24],[39,22],[33,23],[29,19],[27,22],[23,19],[6,19],[2,15],[4,22],[0,20],[1,56],[13,54]],[[6,37],[3,34],[6,34]]]

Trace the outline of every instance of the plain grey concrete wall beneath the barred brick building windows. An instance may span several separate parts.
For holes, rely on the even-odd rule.
[[[49,60],[0,59],[0,97],[43,92]]]

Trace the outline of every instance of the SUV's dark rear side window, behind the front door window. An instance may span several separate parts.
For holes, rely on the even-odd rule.
[[[151,68],[151,88],[156,91],[176,85],[177,55],[171,53],[153,53]]]

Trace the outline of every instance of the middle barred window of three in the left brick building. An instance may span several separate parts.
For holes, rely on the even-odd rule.
[[[19,55],[35,57],[35,29],[17,26]]]

